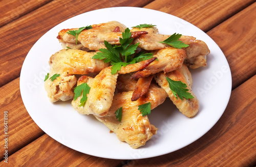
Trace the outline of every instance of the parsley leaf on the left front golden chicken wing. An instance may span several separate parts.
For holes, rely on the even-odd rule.
[[[77,87],[74,88],[74,100],[76,100],[79,96],[81,96],[82,93],[82,98],[80,99],[80,106],[83,106],[86,101],[87,101],[87,94],[90,92],[90,87],[88,86],[87,83],[83,83]]]

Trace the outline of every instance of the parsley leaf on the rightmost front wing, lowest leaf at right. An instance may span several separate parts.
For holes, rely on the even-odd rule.
[[[191,93],[187,92],[188,89],[187,85],[185,83],[183,83],[182,81],[176,81],[173,79],[170,79],[168,77],[166,77],[166,80],[168,81],[170,90],[173,92],[174,96],[176,97],[176,99],[178,99],[177,95],[179,96],[179,98],[181,100],[183,100],[183,97],[186,99],[193,99],[194,96],[191,95]]]

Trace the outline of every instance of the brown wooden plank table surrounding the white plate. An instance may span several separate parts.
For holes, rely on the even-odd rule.
[[[199,140],[173,153],[140,160],[114,160],[77,152],[44,133],[29,116],[20,96],[20,69],[42,35],[75,15],[119,6],[154,9],[189,21],[215,40],[229,63],[232,92],[223,116]],[[3,0],[0,11],[0,166],[256,165],[255,1]],[[5,111],[10,135],[8,163],[4,161]]]

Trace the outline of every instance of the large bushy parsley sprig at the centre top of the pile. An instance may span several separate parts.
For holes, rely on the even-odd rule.
[[[122,38],[119,38],[120,45],[112,46],[109,42],[104,41],[106,48],[101,48],[94,56],[93,59],[104,60],[104,63],[111,63],[111,73],[116,74],[121,67],[129,64],[135,64],[140,61],[153,58],[153,53],[139,52],[135,54],[139,43],[131,44],[133,38],[129,28],[125,29],[122,33]],[[135,54],[135,55],[134,55]]]

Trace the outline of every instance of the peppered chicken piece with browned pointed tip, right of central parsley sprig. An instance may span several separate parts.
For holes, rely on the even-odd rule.
[[[158,60],[152,62],[150,65],[145,67],[142,71],[138,71],[133,74],[132,78],[146,77],[152,74],[156,74],[160,71],[165,73],[180,68],[186,58],[185,51],[183,49],[176,49],[173,47],[165,47],[154,51],[153,55]]]

